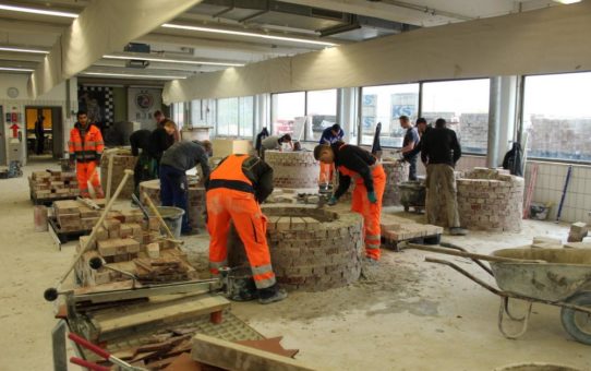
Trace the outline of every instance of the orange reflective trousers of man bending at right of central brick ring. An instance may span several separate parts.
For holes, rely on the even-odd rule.
[[[355,179],[355,189],[351,201],[351,211],[363,216],[363,240],[365,242],[365,255],[367,258],[379,260],[382,244],[382,229],[379,226],[382,219],[382,199],[386,188],[386,173],[382,165],[377,165],[372,176],[374,179],[374,192],[377,199],[375,204],[367,200],[367,189],[363,179]]]

